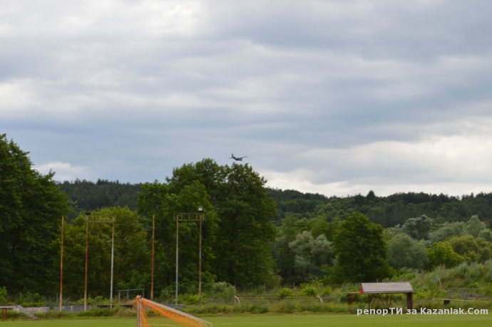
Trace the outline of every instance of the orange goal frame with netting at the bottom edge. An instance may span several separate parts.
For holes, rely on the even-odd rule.
[[[154,323],[149,323],[149,318],[145,311],[153,311],[158,316],[168,318],[179,326],[183,327],[212,327],[212,323],[204,321],[203,319],[192,316],[188,313],[164,306],[163,304],[144,299],[142,296],[136,297],[137,302],[137,327],[150,327],[155,326]]]

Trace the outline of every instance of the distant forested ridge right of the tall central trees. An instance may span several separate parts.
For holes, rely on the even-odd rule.
[[[447,194],[426,194],[424,192],[396,193],[378,197],[373,191],[364,196],[357,194],[347,197],[325,197],[322,194],[302,193],[294,190],[268,189],[277,202],[277,221],[288,213],[300,218],[324,217],[327,222],[347,218],[354,212],[361,212],[371,222],[384,228],[404,224],[406,219],[426,214],[436,223],[465,222],[478,215],[483,222],[492,218],[492,193],[468,194],[456,197]]]

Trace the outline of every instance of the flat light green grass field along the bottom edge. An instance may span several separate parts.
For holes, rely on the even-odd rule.
[[[432,326],[462,327],[491,326],[491,316],[355,316],[355,315],[285,315],[285,316],[224,316],[206,317],[214,327],[384,327],[384,326]],[[135,318],[120,319],[81,319],[81,320],[46,320],[46,321],[4,321],[0,327],[135,327]]]

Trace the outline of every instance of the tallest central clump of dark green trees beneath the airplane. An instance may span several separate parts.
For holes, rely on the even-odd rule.
[[[210,159],[176,168],[166,183],[143,185],[138,207],[147,222],[155,214],[161,226],[158,239],[168,258],[160,265],[166,267],[162,273],[168,284],[175,269],[171,255],[175,251],[173,214],[197,212],[198,207],[203,207],[206,217],[204,263],[210,278],[235,285],[272,282],[275,226],[270,218],[275,215],[275,202],[267,196],[264,185],[265,180],[249,165],[220,166]],[[181,226],[193,232],[182,234]],[[197,232],[190,224],[180,225],[180,237],[190,246],[180,246],[180,271],[189,281],[197,274]]]

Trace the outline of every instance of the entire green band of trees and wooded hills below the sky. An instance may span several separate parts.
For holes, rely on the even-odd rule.
[[[248,165],[211,159],[185,164],[163,182],[53,181],[34,170],[26,152],[0,135],[0,290],[54,296],[58,289],[61,217],[64,294],[80,299],[86,218],[116,217],[115,289],[150,291],[155,222],[155,294],[169,301],[175,287],[179,233],[180,292],[197,293],[197,222],[202,224],[203,283],[237,288],[321,282],[376,281],[416,271],[492,259],[492,194],[461,197],[397,193],[326,197],[265,187]],[[191,216],[190,216],[191,217]],[[196,217],[196,216],[193,216]],[[88,224],[88,284],[107,293],[111,226]],[[492,271],[483,283],[492,283]]]

